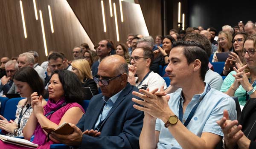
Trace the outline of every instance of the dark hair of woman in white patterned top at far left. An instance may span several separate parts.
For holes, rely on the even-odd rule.
[[[38,95],[44,95],[43,80],[39,77],[35,69],[31,67],[20,68],[15,73],[13,79],[28,83],[33,92],[38,92]]]

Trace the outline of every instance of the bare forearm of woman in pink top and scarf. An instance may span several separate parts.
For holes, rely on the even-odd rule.
[[[31,136],[33,135],[34,131],[35,131],[35,127],[37,125],[37,119],[34,115],[34,113],[32,112],[28,122],[26,123],[26,126],[23,129],[23,136],[26,140],[30,140]]]

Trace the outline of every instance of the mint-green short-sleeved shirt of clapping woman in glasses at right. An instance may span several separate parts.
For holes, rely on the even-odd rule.
[[[220,90],[221,92],[227,92],[230,86],[234,83],[235,77],[233,77],[232,74],[236,74],[236,71],[230,72],[224,79]],[[256,88],[256,86],[254,86],[254,88]],[[240,85],[234,94],[234,96],[238,97],[239,104],[242,106],[246,103],[246,93],[247,92],[244,90],[243,86]]]

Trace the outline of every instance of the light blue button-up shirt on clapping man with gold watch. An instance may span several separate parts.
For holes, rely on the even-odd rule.
[[[192,97],[191,102],[188,104],[183,114],[183,120],[188,118],[189,113],[198,103],[200,97],[206,93],[207,86],[208,84],[206,84],[202,94]],[[184,101],[181,92],[175,92],[169,95],[171,96],[168,102],[169,107],[172,112],[179,117],[179,105],[180,102]],[[230,120],[236,120],[236,103],[233,98],[211,88],[198,105],[194,116],[186,128],[198,137],[201,137],[203,132],[211,132],[216,135],[224,136],[221,127],[216,123],[217,120],[223,117],[224,109],[227,109]],[[158,149],[182,149],[180,144],[169,132],[169,129],[165,128],[162,120],[157,119],[155,130],[160,131],[159,142],[157,143]]]

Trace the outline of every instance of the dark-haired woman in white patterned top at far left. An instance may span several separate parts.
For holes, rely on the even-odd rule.
[[[12,62],[14,61],[12,60]],[[23,67],[19,69],[16,72],[13,80],[15,85],[17,86],[17,92],[20,94],[21,97],[26,98],[19,101],[16,110],[16,118],[14,121],[8,121],[5,117],[0,115],[0,118],[2,119],[0,120],[0,129],[2,129],[2,131],[4,130],[7,133],[7,136],[22,137],[23,128],[26,125],[33,111],[30,95],[33,92],[37,92],[38,95],[43,95],[44,83],[40,79],[38,73],[31,67]],[[42,105],[46,105],[45,100],[42,100]]]

